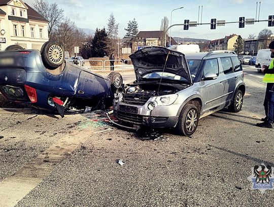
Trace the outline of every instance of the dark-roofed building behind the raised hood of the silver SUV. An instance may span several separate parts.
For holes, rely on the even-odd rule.
[[[169,36],[166,35],[166,44],[169,45]],[[171,38],[171,45],[176,45],[177,42]],[[136,37],[131,39],[131,49],[138,50],[138,47],[144,46],[164,46],[163,31],[140,31]]]

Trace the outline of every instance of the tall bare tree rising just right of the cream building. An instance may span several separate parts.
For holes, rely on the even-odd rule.
[[[47,0],[35,0],[33,7],[36,11],[49,21],[48,33],[58,27],[64,18],[64,10],[59,8],[56,3],[49,4]]]

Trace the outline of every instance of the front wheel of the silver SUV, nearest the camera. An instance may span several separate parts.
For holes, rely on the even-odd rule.
[[[181,135],[191,136],[197,129],[199,117],[200,112],[198,108],[193,104],[186,104],[180,113],[179,120],[176,125],[177,131]]]

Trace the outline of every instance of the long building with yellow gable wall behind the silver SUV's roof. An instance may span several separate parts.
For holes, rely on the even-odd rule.
[[[222,39],[212,40],[209,43],[209,51],[213,50],[235,50],[234,43],[238,35],[232,34],[229,36],[225,36]]]

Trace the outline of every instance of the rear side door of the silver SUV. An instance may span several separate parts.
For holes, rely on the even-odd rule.
[[[227,104],[233,98],[234,90],[236,87],[236,81],[238,77],[234,74],[233,65],[230,57],[220,57],[220,62],[224,76],[223,96],[224,102]],[[239,65],[239,63],[237,65]]]

